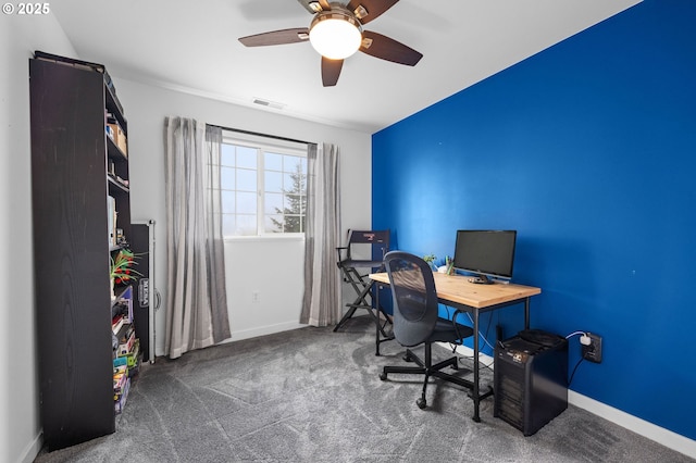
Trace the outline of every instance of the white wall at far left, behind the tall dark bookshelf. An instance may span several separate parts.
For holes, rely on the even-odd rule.
[[[40,448],[34,328],[28,59],[75,55],[52,15],[0,15],[0,461]]]

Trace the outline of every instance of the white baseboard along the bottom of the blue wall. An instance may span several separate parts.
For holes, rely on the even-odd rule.
[[[442,343],[442,346],[449,349],[448,343]],[[473,349],[465,346],[458,346],[457,353],[469,358],[474,356]],[[482,353],[478,355],[478,359],[486,365],[490,365],[490,368],[493,370],[493,356]],[[643,437],[647,437],[650,440],[654,440],[664,447],[683,453],[692,459],[696,459],[696,440],[692,440],[680,434],[654,425],[650,422],[646,422],[645,420],[622,412],[621,410],[614,409],[613,406],[609,406],[605,403],[598,402],[594,399],[583,396],[582,393],[577,393],[574,390],[568,390],[568,403],[577,406],[579,409],[586,410],[589,413],[605,418],[611,423],[618,424],[619,426],[632,430],[633,433],[638,434]]]

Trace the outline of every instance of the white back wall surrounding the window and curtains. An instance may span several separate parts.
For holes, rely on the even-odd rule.
[[[103,63],[109,68],[109,63]],[[113,74],[113,73],[112,73]],[[371,134],[347,130],[283,114],[113,76],[128,121],[130,210],[134,221],[154,220],[157,289],[163,296],[156,315],[156,353],[164,354],[166,268],[164,200],[164,118],[194,117],[209,124],[340,147],[341,222],[346,228],[371,223]],[[225,243],[232,339],[297,326],[302,300],[303,242],[298,239],[239,239]],[[252,301],[252,293],[259,295]]]

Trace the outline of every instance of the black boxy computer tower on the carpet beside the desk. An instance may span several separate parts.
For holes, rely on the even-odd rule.
[[[531,436],[568,408],[568,341],[540,330],[496,345],[493,415]]]

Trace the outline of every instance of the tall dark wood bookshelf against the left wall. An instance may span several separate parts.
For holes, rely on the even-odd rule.
[[[37,52],[29,60],[32,191],[39,401],[49,450],[115,430],[108,196],[130,232],[128,158],[105,132],[127,134],[101,65]],[[101,66],[101,67],[100,67]],[[111,167],[113,163],[113,167]]]

